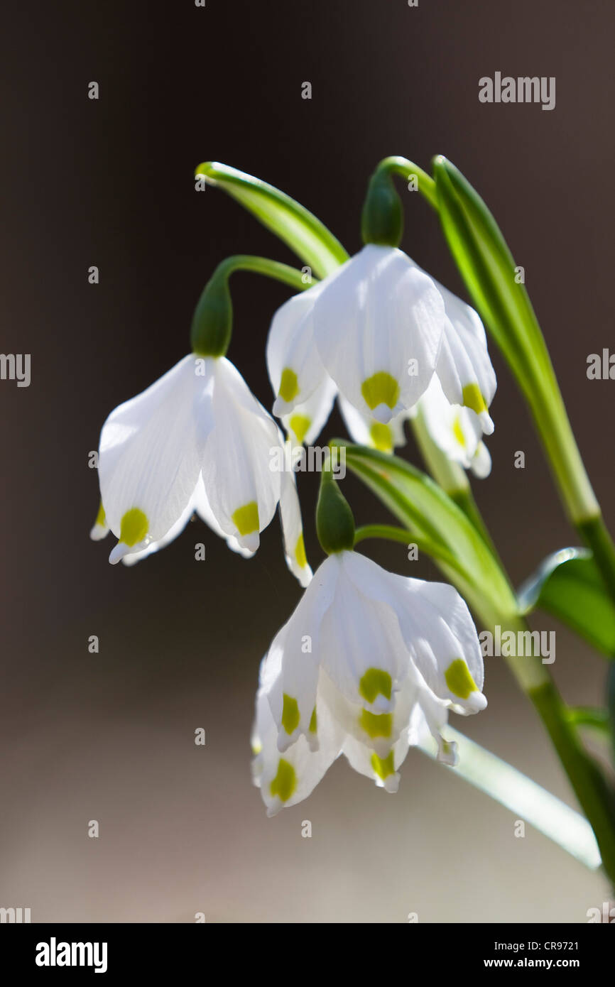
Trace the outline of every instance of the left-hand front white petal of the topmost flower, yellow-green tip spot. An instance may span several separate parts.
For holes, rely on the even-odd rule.
[[[294,295],[273,316],[267,366],[278,417],[304,404],[327,376],[312,335],[312,312],[321,290],[319,283]]]

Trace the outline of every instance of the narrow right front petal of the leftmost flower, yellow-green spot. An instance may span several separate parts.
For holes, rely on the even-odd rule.
[[[202,460],[209,506],[225,535],[254,552],[279,500],[280,474],[271,469],[275,454],[283,454],[279,431],[224,357],[216,361],[212,410]]]

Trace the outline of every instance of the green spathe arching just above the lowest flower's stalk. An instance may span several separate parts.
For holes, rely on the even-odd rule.
[[[488,625],[517,615],[508,580],[491,549],[460,507],[410,463],[365,446],[345,447],[346,466],[414,534],[446,578]],[[452,557],[454,564],[447,563]]]

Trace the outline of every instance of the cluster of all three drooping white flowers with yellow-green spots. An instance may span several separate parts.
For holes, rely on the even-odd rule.
[[[279,507],[287,565],[307,588],[262,664],[255,782],[272,814],[309,795],[344,753],[394,792],[425,733],[454,763],[441,735],[449,709],[486,705],[472,618],[452,586],[391,574],[352,551],[346,508],[347,530],[333,545],[321,537],[329,558],[312,578],[295,476],[272,470],[271,454],[288,451],[285,441],[310,444],[338,398],[355,441],[391,452],[404,421],[422,415],[451,460],[486,476],[496,376],[481,320],[400,250],[368,243],[272,320],[272,413],[287,440],[224,355],[225,333],[218,320],[211,342],[201,334],[205,342],[105,422],[92,537],[111,530],[110,562],[131,565],[195,512],[250,557]]]

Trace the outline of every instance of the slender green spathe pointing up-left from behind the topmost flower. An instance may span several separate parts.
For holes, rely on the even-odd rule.
[[[194,175],[237,199],[310,266],[317,277],[326,277],[347,261],[344,247],[331,230],[285,192],[217,161],[203,162]]]

